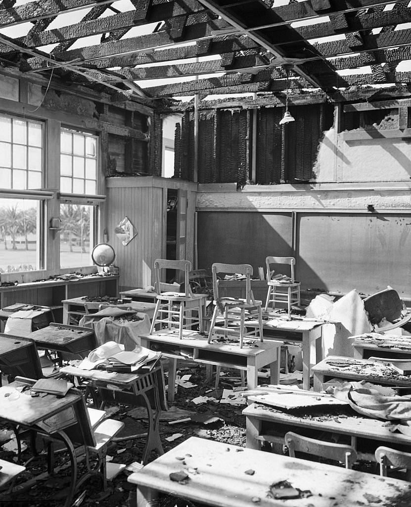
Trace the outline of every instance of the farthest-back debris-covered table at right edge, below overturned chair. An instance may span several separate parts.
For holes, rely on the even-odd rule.
[[[354,357],[386,357],[387,359],[411,358],[411,336],[368,333],[351,337]]]

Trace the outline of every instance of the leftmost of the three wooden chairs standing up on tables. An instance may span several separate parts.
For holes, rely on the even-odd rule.
[[[161,269],[183,271],[184,293],[161,292]],[[183,329],[192,329],[192,327],[197,324],[199,332],[202,333],[202,303],[205,296],[203,294],[193,294],[191,291],[188,276],[189,271],[191,271],[190,261],[156,259],[154,262],[154,271],[157,302],[151,322],[150,334],[153,333],[156,324],[160,324],[160,327],[165,324],[168,329],[178,327],[180,340],[183,338]],[[178,309],[176,309],[176,305]],[[198,312],[198,316],[192,315],[193,310]],[[173,320],[173,317],[176,316],[178,316],[178,320]]]

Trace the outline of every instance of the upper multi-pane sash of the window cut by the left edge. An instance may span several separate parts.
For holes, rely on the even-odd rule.
[[[0,187],[33,190],[43,184],[43,124],[0,115]]]

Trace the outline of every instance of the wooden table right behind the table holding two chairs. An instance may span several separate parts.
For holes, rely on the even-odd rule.
[[[315,363],[322,359],[322,324],[324,321],[263,312],[264,339],[302,344],[304,389],[310,387],[312,345],[315,346]],[[257,327],[258,321],[246,321],[246,326]]]

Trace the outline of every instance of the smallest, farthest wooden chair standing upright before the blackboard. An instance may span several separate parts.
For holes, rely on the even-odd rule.
[[[286,303],[288,313],[291,313],[291,305],[297,303],[300,305],[300,282],[295,281],[294,266],[296,260],[294,257],[266,257],[265,263],[267,265],[267,300],[265,302],[265,311],[268,310],[270,303],[274,309],[276,303]],[[291,279],[284,281],[273,280],[271,264],[285,264],[291,267]]]

